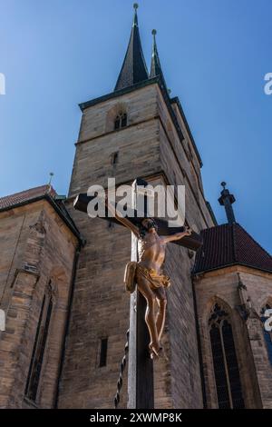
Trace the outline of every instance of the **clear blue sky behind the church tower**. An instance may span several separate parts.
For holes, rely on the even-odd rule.
[[[0,195],[47,183],[67,194],[77,104],[112,92],[131,31],[128,0],[0,0]],[[219,223],[220,182],[237,220],[270,253],[271,0],[141,0],[148,65],[151,29],[171,94],[180,96]]]

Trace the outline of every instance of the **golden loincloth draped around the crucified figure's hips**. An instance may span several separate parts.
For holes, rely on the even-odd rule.
[[[145,279],[151,283],[151,290],[155,291],[160,287],[168,288],[170,286],[170,277],[157,273],[152,268],[143,267],[140,263],[131,261],[127,263],[124,275],[124,283],[127,291],[133,293],[136,287],[136,274],[141,274]]]

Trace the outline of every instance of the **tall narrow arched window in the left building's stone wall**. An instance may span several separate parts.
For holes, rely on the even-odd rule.
[[[25,396],[33,402],[36,401],[38,392],[42,366],[44,361],[44,351],[49,331],[49,325],[53,312],[53,288],[51,281],[44,292],[42,308],[40,312],[39,322],[36,329],[34,348],[30,367],[25,386]]]

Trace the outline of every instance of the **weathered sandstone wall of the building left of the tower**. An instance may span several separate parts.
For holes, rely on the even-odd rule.
[[[41,221],[44,233],[36,227]],[[24,402],[24,389],[44,288],[52,280],[56,294],[35,402],[38,407],[50,408],[58,381],[77,239],[45,201],[0,214],[0,226],[5,234],[0,243],[1,308],[6,315],[5,332],[0,332],[0,407],[33,406]],[[25,265],[31,265],[31,271],[25,270]]]

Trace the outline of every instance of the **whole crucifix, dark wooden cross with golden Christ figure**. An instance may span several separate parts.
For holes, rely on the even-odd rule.
[[[165,288],[170,285],[170,278],[160,270],[165,246],[171,242],[196,251],[202,244],[199,234],[188,227],[169,227],[166,220],[150,218],[146,194],[143,195],[144,212],[140,214],[137,211],[138,189],[147,184],[141,178],[133,182],[131,210],[134,212],[127,214],[127,217],[121,217],[106,197],[105,218],[131,230],[131,263],[127,264],[125,274],[127,289],[130,286],[131,292],[128,374],[130,409],[154,408],[153,360],[163,352],[160,337],[165,321]],[[92,198],[87,194],[79,194],[74,201],[74,208],[87,212],[87,205]],[[157,315],[156,302],[159,305]]]

